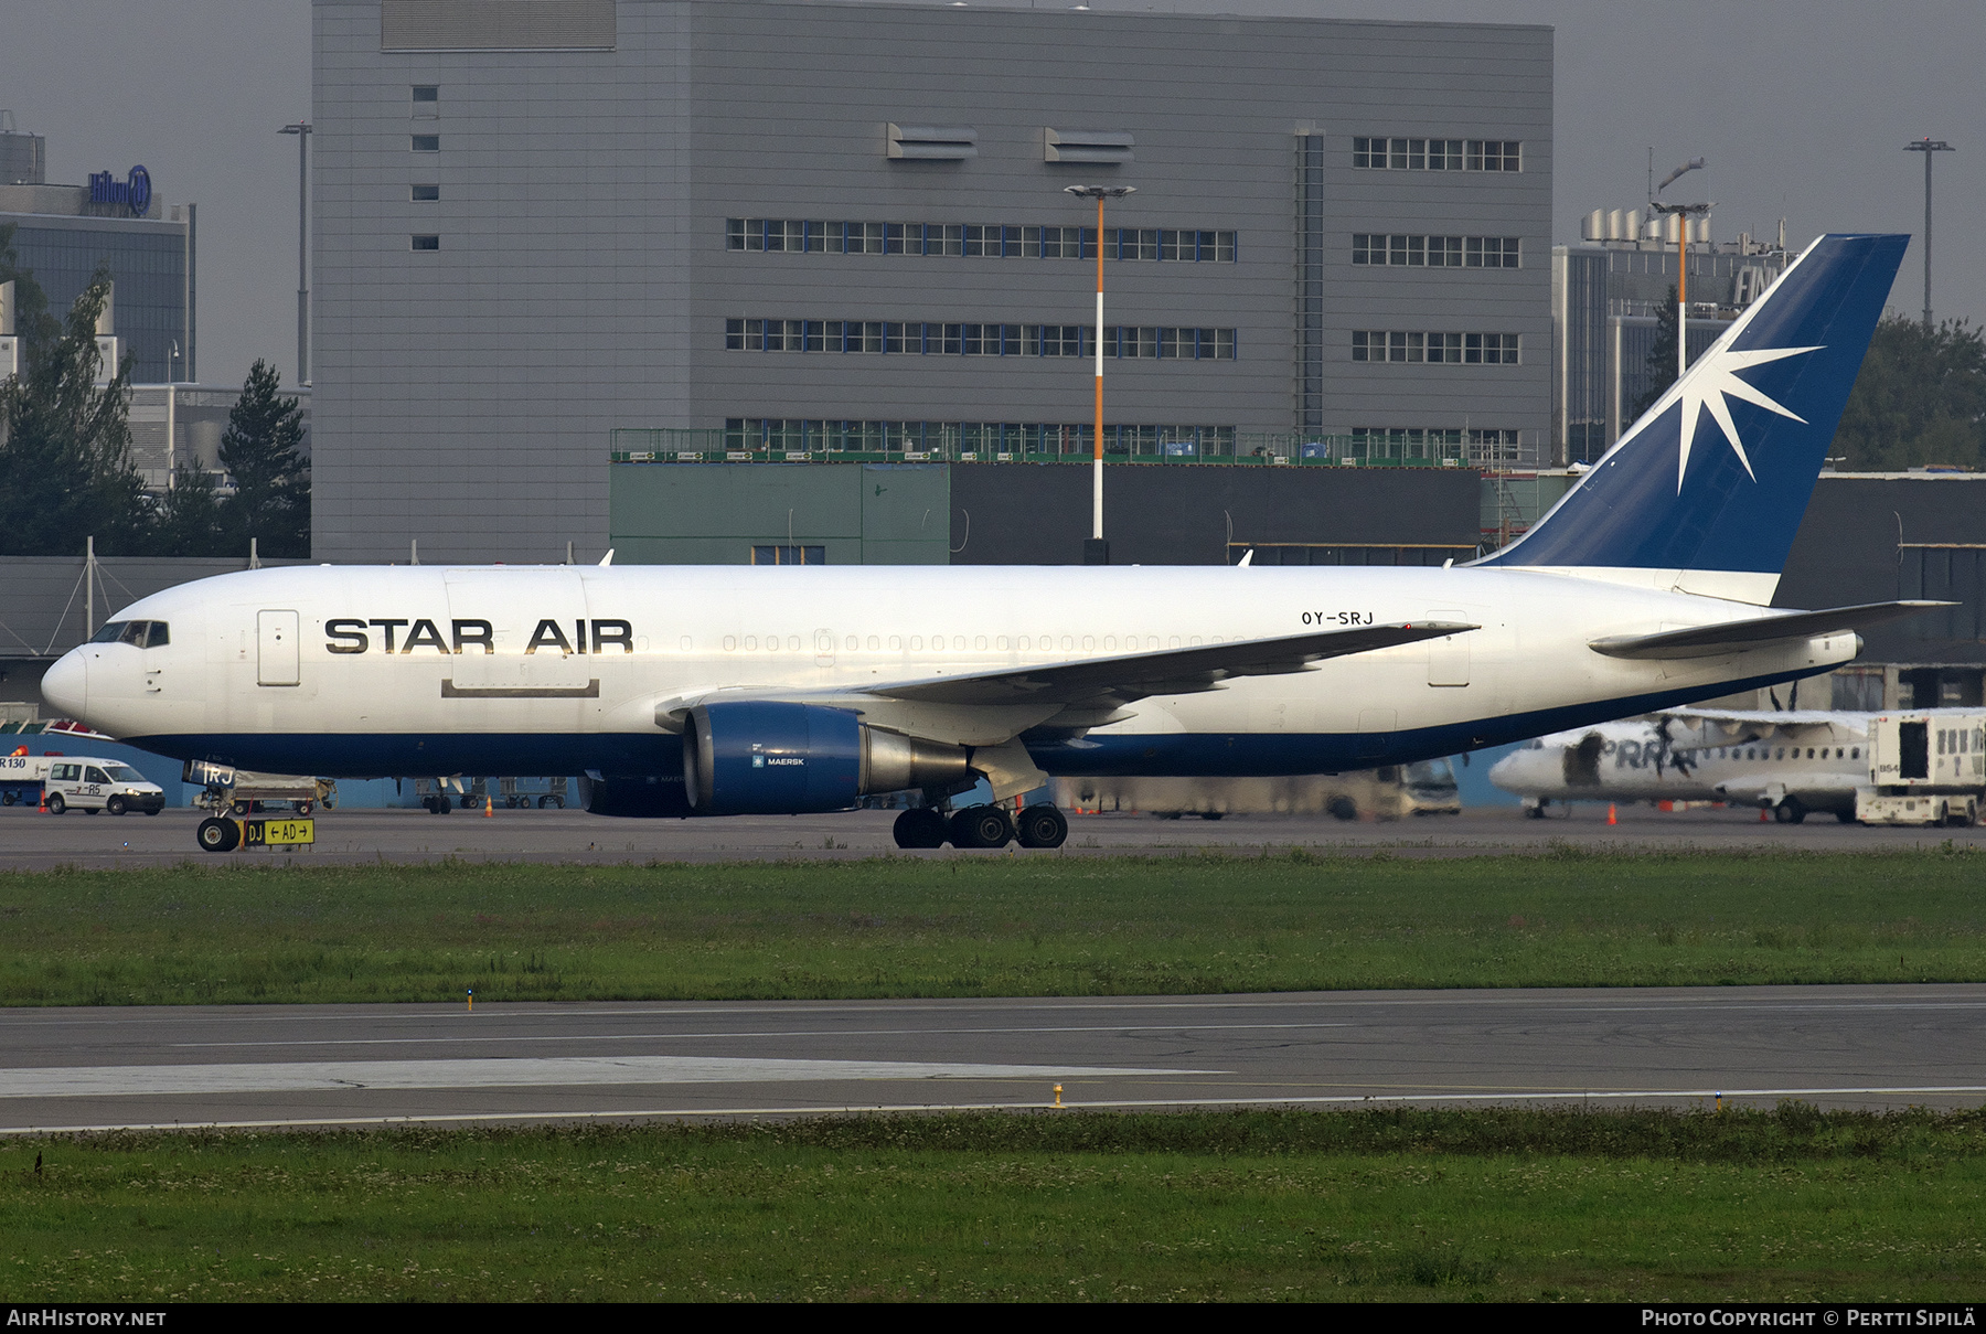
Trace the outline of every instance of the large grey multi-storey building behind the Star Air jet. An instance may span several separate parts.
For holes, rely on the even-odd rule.
[[[1535,465],[1551,50],[981,4],[316,0],[316,558],[600,552],[610,492],[677,453],[1086,459],[1098,246],[1110,459]],[[1138,193],[1098,238],[1068,185]],[[616,431],[669,465],[610,465]],[[749,560],[739,536],[701,558]]]

